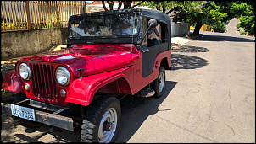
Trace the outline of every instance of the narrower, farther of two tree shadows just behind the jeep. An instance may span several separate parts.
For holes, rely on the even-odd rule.
[[[196,52],[208,52],[209,50],[207,48],[198,47],[198,46],[189,46],[189,45],[183,45],[180,49],[173,49],[172,52],[190,52],[190,53],[196,53]]]

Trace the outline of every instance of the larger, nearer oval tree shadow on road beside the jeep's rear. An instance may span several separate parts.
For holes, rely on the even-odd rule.
[[[207,66],[208,61],[197,56],[171,54],[172,70],[195,69]]]

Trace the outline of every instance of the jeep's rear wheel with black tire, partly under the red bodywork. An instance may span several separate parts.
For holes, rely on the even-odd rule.
[[[156,92],[154,97],[160,98],[164,93],[164,84],[165,84],[165,70],[161,66],[159,68],[159,77],[152,82],[152,88]]]

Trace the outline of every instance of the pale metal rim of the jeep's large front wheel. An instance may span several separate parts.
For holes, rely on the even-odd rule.
[[[110,108],[103,115],[98,128],[98,141],[101,143],[109,143],[116,130],[117,113],[114,108]]]

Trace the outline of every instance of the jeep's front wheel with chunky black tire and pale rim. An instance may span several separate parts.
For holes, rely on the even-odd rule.
[[[118,99],[103,96],[92,102],[81,126],[81,142],[114,142],[120,127]]]

